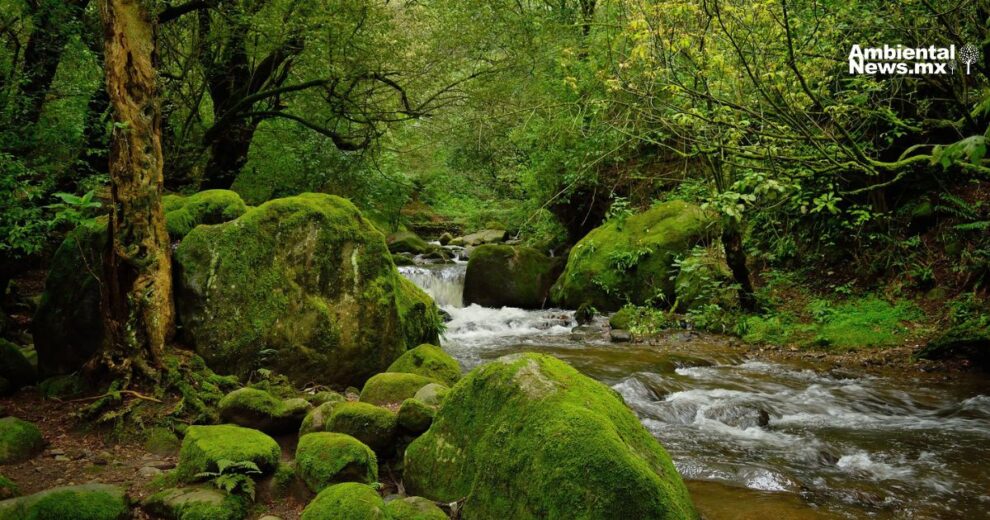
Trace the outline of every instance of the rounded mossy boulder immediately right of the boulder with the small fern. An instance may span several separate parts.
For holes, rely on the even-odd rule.
[[[378,482],[378,458],[361,441],[343,433],[303,435],[296,447],[299,478],[314,493],[341,482]]]

